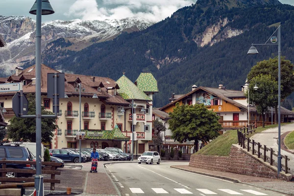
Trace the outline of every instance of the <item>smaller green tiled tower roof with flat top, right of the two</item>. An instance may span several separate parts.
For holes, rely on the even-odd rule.
[[[157,81],[152,73],[141,73],[135,83],[143,92],[158,92]]]

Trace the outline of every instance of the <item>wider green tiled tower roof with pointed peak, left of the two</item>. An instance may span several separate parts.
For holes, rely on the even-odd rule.
[[[152,101],[143,91],[141,91],[129,78],[123,75],[116,81],[120,87],[117,92],[126,100],[146,100]]]

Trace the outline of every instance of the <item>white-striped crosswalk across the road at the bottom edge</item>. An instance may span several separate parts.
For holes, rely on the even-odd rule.
[[[145,192],[149,192],[148,190],[142,190],[141,188],[129,188],[130,191],[134,194],[144,194]],[[265,193],[261,193],[258,191],[250,190],[250,189],[240,189],[240,190],[230,190],[230,189],[216,189],[216,190],[208,190],[208,189],[183,189],[183,188],[174,188],[172,191],[165,190],[163,188],[151,188],[153,192],[156,194],[205,194],[205,195],[218,195],[226,193],[227,195],[244,195],[245,193],[252,194],[253,196],[267,196]],[[144,192],[145,191],[145,192]],[[175,192],[174,192],[175,191]]]

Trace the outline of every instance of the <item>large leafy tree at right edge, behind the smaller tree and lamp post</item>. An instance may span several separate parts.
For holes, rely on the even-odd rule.
[[[294,65],[290,60],[286,60],[284,56],[281,57],[281,99],[287,98],[294,91]],[[278,81],[278,57],[270,58],[257,62],[248,73],[247,78],[252,78],[260,75],[270,75],[274,81]],[[278,95],[278,89],[274,92]],[[277,122],[277,107],[278,100],[275,101],[275,121]]]

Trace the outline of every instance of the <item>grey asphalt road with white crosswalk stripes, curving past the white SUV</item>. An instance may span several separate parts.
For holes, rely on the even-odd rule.
[[[122,196],[284,196],[269,190],[233,183],[196,173],[170,168],[171,165],[188,165],[187,162],[162,162],[160,165],[124,163],[107,165]]]

